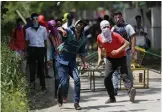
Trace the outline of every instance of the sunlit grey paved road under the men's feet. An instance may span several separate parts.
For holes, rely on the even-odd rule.
[[[46,79],[48,93],[38,95],[35,108],[31,112],[160,112],[161,110],[161,74],[149,71],[150,85],[149,89],[137,89],[136,102],[131,103],[125,90],[120,90],[116,97],[117,102],[113,104],[104,104],[108,99],[106,91],[103,88],[103,79],[98,79],[96,92],[83,90],[89,88],[88,80],[81,78],[81,101],[82,110],[76,111],[73,106],[73,80],[70,80],[70,89],[68,102],[59,108],[53,99],[54,79]],[[38,85],[38,84],[37,84]]]

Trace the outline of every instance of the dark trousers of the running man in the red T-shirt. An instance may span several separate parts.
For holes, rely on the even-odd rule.
[[[120,77],[124,82],[125,88],[129,91],[133,86],[132,82],[128,79],[126,57],[124,56],[121,58],[106,58],[104,84],[110,98],[114,98],[112,74],[117,69],[120,70]]]

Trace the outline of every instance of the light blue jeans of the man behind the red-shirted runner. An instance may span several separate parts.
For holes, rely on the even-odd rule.
[[[132,63],[131,50],[126,51],[126,57],[127,57],[128,78],[133,83],[133,73],[132,73],[132,70],[131,70],[131,63]],[[112,80],[113,80],[114,88],[118,88],[118,80],[119,80],[118,71],[115,71],[113,73],[113,79]]]

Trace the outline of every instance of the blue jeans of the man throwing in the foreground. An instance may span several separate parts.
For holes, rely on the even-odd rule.
[[[74,103],[79,103],[80,101],[80,77],[79,72],[76,64],[76,60],[72,60],[69,62],[69,65],[60,64],[56,61],[57,72],[59,76],[59,87],[58,87],[58,94],[62,97],[66,94],[68,84],[69,84],[69,74],[72,71],[72,76],[74,79]]]

